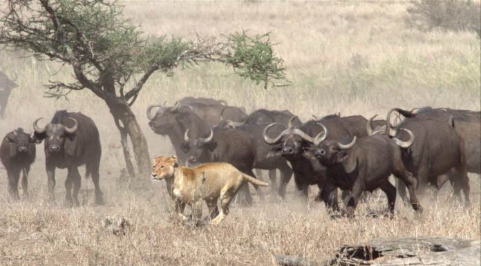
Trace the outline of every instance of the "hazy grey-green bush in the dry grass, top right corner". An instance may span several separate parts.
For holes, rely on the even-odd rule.
[[[408,8],[406,23],[420,30],[479,30],[481,5],[471,0],[420,0]]]

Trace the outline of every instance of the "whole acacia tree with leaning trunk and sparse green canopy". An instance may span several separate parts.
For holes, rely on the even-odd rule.
[[[178,66],[219,61],[265,88],[287,82],[269,34],[251,37],[241,32],[196,40],[145,37],[122,11],[115,1],[8,0],[0,19],[0,44],[73,68],[75,82],[49,81],[46,96],[59,98],[88,89],[103,99],[120,131],[131,176],[129,139],[138,171],[148,173],[150,167],[147,141],[131,106],[155,71],[169,75]]]

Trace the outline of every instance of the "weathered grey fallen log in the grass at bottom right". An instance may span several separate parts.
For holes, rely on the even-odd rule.
[[[424,236],[380,238],[369,243],[343,245],[330,260],[317,262],[295,256],[273,256],[283,266],[404,266],[404,265],[481,265],[480,240]]]

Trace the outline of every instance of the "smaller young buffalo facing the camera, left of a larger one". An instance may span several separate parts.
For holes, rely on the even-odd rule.
[[[23,129],[15,129],[3,137],[0,146],[0,160],[7,169],[8,193],[14,199],[19,198],[20,172],[23,172],[21,187],[23,197],[28,198],[28,172],[30,164],[35,161],[35,140]]]

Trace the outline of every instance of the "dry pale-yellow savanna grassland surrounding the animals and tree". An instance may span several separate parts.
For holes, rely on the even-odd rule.
[[[361,114],[384,117],[399,106],[443,106],[480,110],[480,39],[474,32],[421,32],[406,27],[408,3],[126,1],[126,15],[147,34],[218,35],[248,29],[272,32],[276,52],[285,59],[291,86],[267,91],[217,64],[195,66],[173,77],[154,75],[133,109],[150,144],[150,154],[173,154],[165,137],[155,135],[144,115],[149,104],[195,95],[229,104],[289,109],[302,120],[311,115]],[[20,53],[0,54],[0,69],[18,73],[20,88],[10,97],[0,135],[18,126],[32,130],[37,117],[56,110],[82,111],[95,120],[102,137],[101,187],[106,205],[93,202],[91,180],[82,180],[82,207],[62,205],[66,171],[57,171],[57,204],[46,203],[42,146],[30,173],[30,200],[9,202],[6,171],[0,169],[0,265],[271,265],[270,254],[328,258],[339,245],[384,236],[442,235],[481,237],[480,182],[470,175],[473,204],[462,208],[425,196],[416,215],[401,202],[394,219],[371,218],[386,198],[375,193],[361,204],[357,218],[332,220],[323,204],[305,207],[291,180],[285,203],[233,207],[218,227],[173,222],[163,183],[122,178],[124,159],[111,115],[89,91],[65,99],[43,97],[48,79],[70,78],[70,68]],[[50,77],[53,75],[53,77]],[[313,196],[317,189],[312,189]],[[267,191],[266,191],[267,192]],[[311,197],[312,202],[312,197]],[[101,229],[107,216],[123,217],[132,227],[125,236]]]

